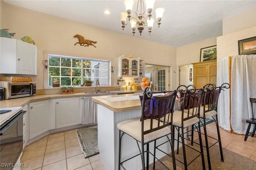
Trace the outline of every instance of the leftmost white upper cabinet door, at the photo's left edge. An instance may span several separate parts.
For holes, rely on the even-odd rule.
[[[0,73],[16,74],[16,39],[0,37]]]

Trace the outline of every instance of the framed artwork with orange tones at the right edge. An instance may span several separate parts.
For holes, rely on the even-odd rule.
[[[256,54],[256,37],[246,38],[238,41],[238,54]]]

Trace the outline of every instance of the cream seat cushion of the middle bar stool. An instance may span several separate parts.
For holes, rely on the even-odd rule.
[[[181,111],[174,111],[173,113],[173,118],[172,118],[172,125],[174,126],[177,126],[177,127],[181,127],[181,116],[182,116],[182,112]],[[167,117],[167,115],[166,115]],[[184,117],[183,118],[187,118],[187,114],[184,114]],[[170,121],[171,117],[169,117],[169,121]],[[161,118],[160,119],[161,121],[164,121],[164,118]],[[189,127],[191,125],[194,125],[195,123],[198,123],[199,122],[199,119],[198,117],[193,117],[189,120],[186,120],[184,121],[183,125],[184,125],[184,128],[185,127]]]

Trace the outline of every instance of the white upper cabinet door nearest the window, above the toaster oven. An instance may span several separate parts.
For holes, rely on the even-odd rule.
[[[17,74],[37,75],[37,47],[17,40]]]

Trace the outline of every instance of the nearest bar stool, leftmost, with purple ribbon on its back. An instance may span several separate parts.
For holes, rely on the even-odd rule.
[[[155,94],[154,96],[153,93]],[[164,95],[159,95],[158,93],[165,93]],[[123,163],[140,155],[142,160],[142,170],[148,169],[149,166],[149,154],[154,157],[153,168],[155,168],[156,149],[154,147],[154,153],[149,150],[149,143],[154,142],[156,145],[156,140],[164,136],[170,141],[168,137],[171,134],[170,122],[161,122],[160,118],[169,120],[169,116],[172,115],[174,102],[176,98],[176,91],[163,91],[163,92],[153,92],[150,87],[146,87],[143,96],[140,96],[141,100],[141,118],[130,119],[118,123],[117,127],[119,129],[119,157],[118,157],[118,170],[122,167]],[[170,114],[168,114],[170,113]],[[124,134],[134,138],[136,140],[139,154],[131,156],[126,160],[121,160],[121,148],[122,148],[122,137]],[[139,144],[141,143],[141,144]],[[144,145],[146,145],[146,150],[144,150]],[[176,164],[174,159],[174,146],[170,142],[170,147],[173,154],[173,168],[176,170]],[[146,152],[146,166],[145,166],[145,152]],[[161,162],[162,163],[162,162]],[[163,163],[162,163],[163,164]],[[164,165],[164,164],[163,164]],[[165,165],[164,165],[165,166]],[[166,166],[165,166],[166,167]],[[167,167],[166,167],[167,168]]]

